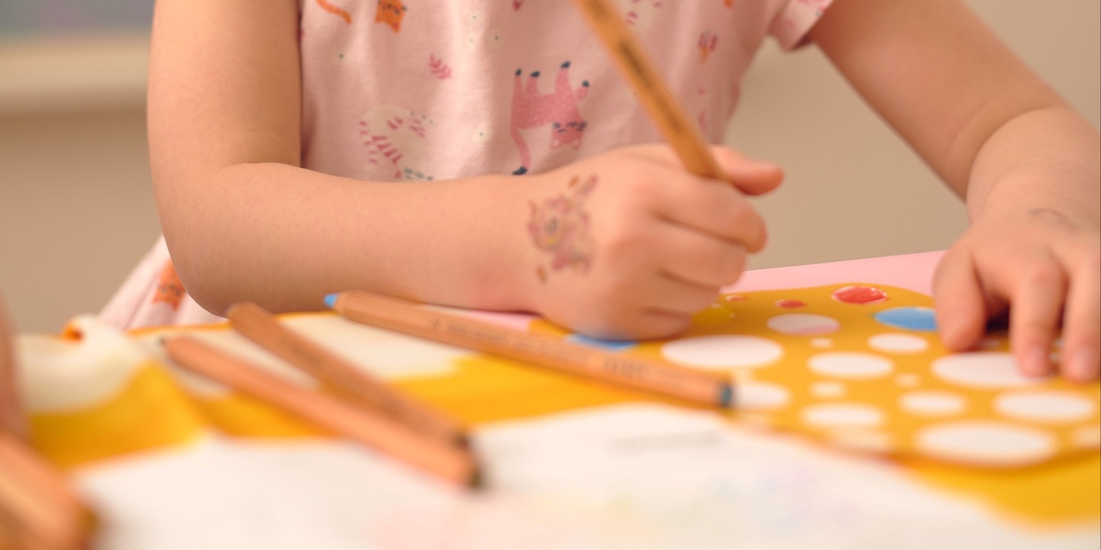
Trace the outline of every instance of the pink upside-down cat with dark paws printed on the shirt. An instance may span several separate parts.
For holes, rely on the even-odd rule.
[[[581,119],[577,102],[589,94],[588,80],[582,81],[576,90],[570,87],[569,62],[563,63],[558,68],[554,91],[549,94],[539,94],[539,72],[527,77],[526,86],[522,82],[521,73],[521,69],[516,69],[512,89],[511,132],[520,148],[520,167],[513,174],[517,176],[527,173],[532,165],[532,153],[521,130],[550,124],[550,148],[566,144],[574,148],[581,146],[581,138],[588,123]]]

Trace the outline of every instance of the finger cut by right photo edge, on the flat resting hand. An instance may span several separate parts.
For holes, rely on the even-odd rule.
[[[1062,372],[1078,382],[1095,380],[1101,370],[1101,265],[1083,262],[1067,294],[1062,322]]]

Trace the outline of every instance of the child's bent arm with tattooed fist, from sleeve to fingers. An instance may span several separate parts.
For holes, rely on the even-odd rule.
[[[319,309],[328,293],[362,288],[534,310],[595,336],[667,334],[763,244],[742,194],[688,175],[667,147],[534,176],[416,184],[303,169],[297,37],[294,0],[156,4],[156,200],[182,280],[212,312],[239,300]],[[716,154],[746,193],[778,184],[774,166]],[[550,220],[555,198],[573,200],[563,226]]]

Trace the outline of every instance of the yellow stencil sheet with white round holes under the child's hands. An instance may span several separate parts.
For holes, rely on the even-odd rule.
[[[847,449],[982,468],[1097,450],[1098,383],[1021,375],[1004,334],[949,353],[931,308],[864,284],[728,294],[676,339],[588,342],[728,372],[735,418]],[[545,321],[532,330],[579,339]]]

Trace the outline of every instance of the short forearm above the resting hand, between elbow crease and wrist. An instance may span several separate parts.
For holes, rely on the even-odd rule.
[[[968,213],[1050,210],[1101,227],[1101,134],[1065,106],[1014,117],[985,141],[967,188]]]

